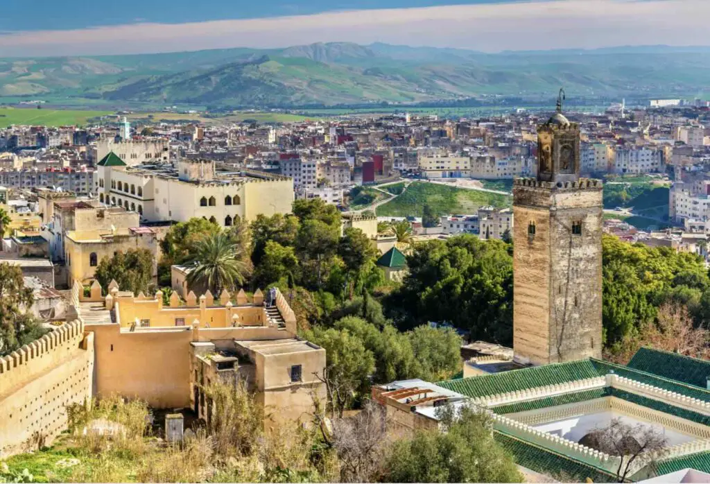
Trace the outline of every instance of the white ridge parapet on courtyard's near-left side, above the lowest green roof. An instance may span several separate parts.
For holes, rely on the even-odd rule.
[[[607,453],[591,449],[591,447],[577,444],[577,442],[564,439],[564,437],[534,429],[529,425],[509,419],[504,415],[493,414],[491,418],[493,419],[493,427],[495,427],[496,430],[506,432],[506,434],[518,437],[518,439],[523,441],[537,444],[545,449],[550,449],[564,456],[574,458],[577,461],[603,468],[609,472],[616,472],[616,468],[618,468],[618,457],[613,457]]]

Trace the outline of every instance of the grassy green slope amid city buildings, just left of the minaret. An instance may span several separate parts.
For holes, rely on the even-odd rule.
[[[510,207],[511,197],[471,189],[413,182],[391,202],[377,208],[378,216],[422,216],[425,204],[437,215],[474,214],[479,207]]]

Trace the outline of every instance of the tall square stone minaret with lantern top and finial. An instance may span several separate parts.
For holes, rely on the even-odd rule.
[[[579,177],[579,125],[537,126],[537,179],[513,185],[513,351],[545,365],[601,357],[602,182]]]

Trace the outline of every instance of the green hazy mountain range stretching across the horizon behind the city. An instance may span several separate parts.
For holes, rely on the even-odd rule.
[[[693,97],[710,94],[710,48],[668,46],[480,53],[316,43],[95,57],[0,58],[0,103],[288,107],[457,99]]]

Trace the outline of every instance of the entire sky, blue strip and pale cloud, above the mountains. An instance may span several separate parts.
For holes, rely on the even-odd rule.
[[[9,3],[9,4],[8,4]],[[709,45],[710,0],[2,0],[0,57],[315,42],[484,52]]]

